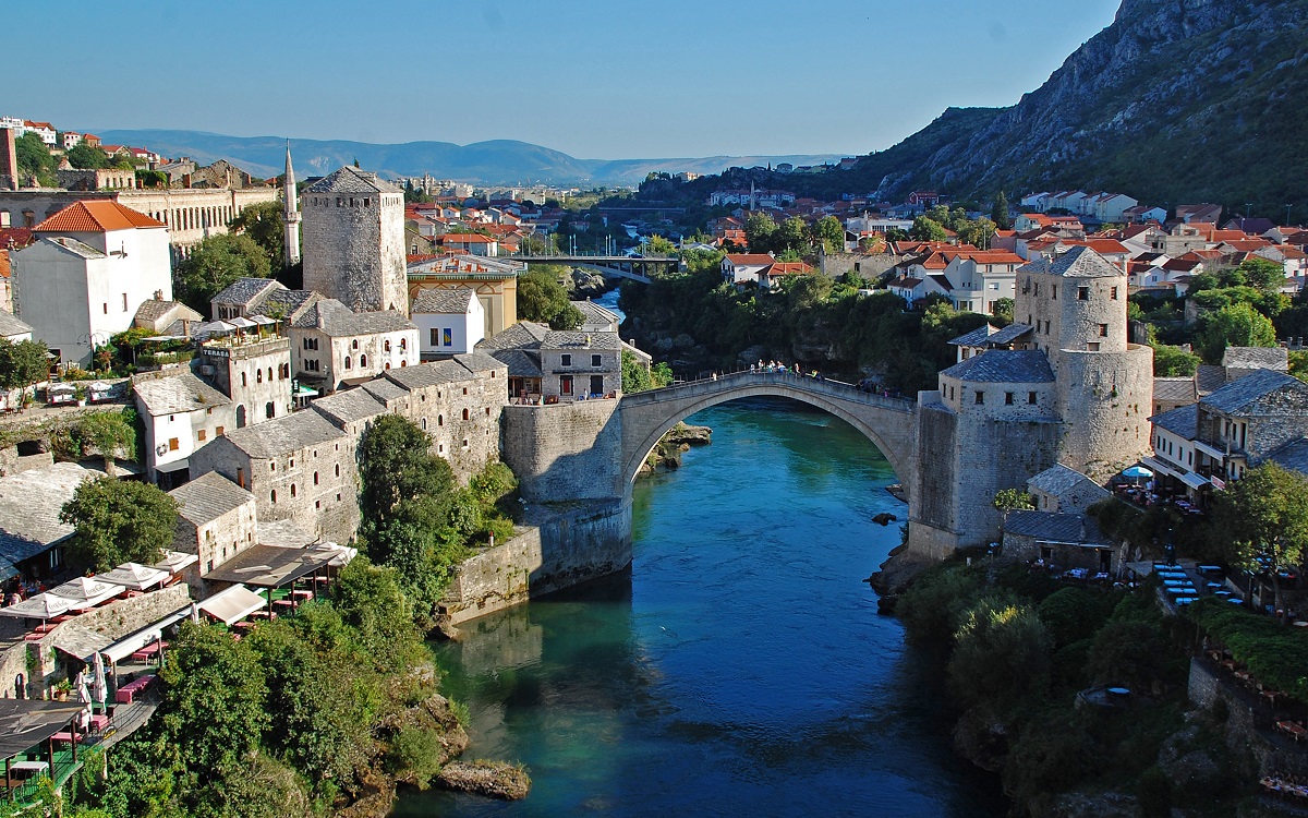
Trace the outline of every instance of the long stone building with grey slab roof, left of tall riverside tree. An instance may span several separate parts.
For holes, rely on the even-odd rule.
[[[228,433],[196,452],[196,474],[216,471],[255,499],[260,521],[289,520],[320,539],[358,529],[358,438],[314,411]]]

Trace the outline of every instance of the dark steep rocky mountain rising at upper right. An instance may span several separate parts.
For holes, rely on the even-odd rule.
[[[755,174],[757,175],[757,174]],[[950,109],[811,194],[1112,190],[1308,221],[1308,0],[1125,0],[1037,90]],[[765,179],[760,182],[766,183]],[[797,191],[800,192],[800,191]]]

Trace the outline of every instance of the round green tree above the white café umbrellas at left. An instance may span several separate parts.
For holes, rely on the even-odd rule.
[[[76,529],[69,546],[75,561],[109,571],[164,556],[177,527],[177,501],[149,483],[106,476],[78,486],[59,520]]]

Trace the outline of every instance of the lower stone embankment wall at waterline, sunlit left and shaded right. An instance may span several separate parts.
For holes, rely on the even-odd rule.
[[[528,508],[532,527],[464,560],[442,601],[441,616],[468,619],[578,585],[632,563],[632,508],[623,500],[566,509]]]

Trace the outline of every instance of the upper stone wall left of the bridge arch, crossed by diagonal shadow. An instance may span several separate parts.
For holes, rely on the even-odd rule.
[[[527,503],[624,495],[617,400],[504,407],[504,461]]]

